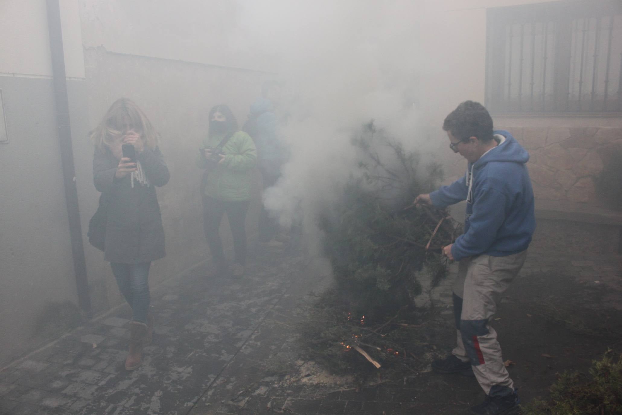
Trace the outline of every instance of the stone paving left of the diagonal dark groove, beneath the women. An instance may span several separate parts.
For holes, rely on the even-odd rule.
[[[0,373],[0,413],[187,413],[236,354],[259,346],[255,330],[300,279],[298,258],[278,261],[257,261],[241,281],[199,272],[155,290],[154,342],[135,371],[123,368],[128,307],[74,330]]]

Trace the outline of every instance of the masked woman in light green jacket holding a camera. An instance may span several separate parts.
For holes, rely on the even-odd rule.
[[[197,166],[203,176],[203,228],[219,273],[225,272],[225,254],[218,235],[223,213],[227,213],[233,236],[234,276],[243,276],[246,266],[246,212],[251,200],[251,170],[257,149],[251,137],[238,131],[230,108],[216,105],[210,110],[210,129],[203,139]]]

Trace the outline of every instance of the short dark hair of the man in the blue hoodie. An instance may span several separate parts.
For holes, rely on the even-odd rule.
[[[493,139],[493,119],[480,103],[464,101],[445,118],[443,130],[460,140],[476,137],[489,142]]]

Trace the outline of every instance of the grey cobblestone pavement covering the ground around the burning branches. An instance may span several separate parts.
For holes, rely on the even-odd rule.
[[[140,368],[123,368],[129,308],[121,307],[0,372],[0,414],[461,414],[483,399],[472,378],[434,373],[360,391],[347,378],[318,382],[317,368],[298,360],[295,324],[309,293],[330,284],[321,268],[260,253],[239,281],[202,269],[169,281],[152,291],[156,332]],[[606,286],[594,307],[620,310],[620,259],[534,254],[521,275],[551,271]],[[447,335],[433,339],[443,350],[453,339],[451,282],[427,298],[446,323]],[[534,363],[529,376],[541,369]]]

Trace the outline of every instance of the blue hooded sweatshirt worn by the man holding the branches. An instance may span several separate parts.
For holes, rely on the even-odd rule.
[[[452,246],[456,261],[478,254],[508,256],[527,249],[536,229],[534,193],[525,163],[527,151],[508,131],[494,131],[498,146],[462,179],[430,193],[432,204],[447,207],[466,200],[464,233]]]

